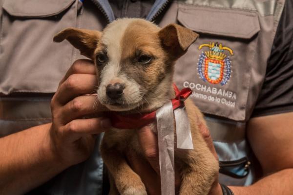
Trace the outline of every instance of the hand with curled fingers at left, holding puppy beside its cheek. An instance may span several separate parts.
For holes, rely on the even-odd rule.
[[[97,78],[92,61],[79,59],[61,80],[51,101],[50,139],[53,154],[64,165],[84,161],[92,152],[96,134],[104,132],[110,121],[104,117],[84,118],[106,108],[95,93]]]

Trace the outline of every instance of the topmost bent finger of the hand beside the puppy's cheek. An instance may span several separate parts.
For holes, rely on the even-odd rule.
[[[70,66],[65,76],[60,81],[59,85],[61,85],[70,75],[73,74],[89,74],[95,75],[96,69],[92,60],[90,59],[78,59]]]

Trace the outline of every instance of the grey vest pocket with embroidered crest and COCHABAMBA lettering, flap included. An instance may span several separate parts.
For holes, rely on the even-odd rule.
[[[248,93],[260,31],[253,11],[178,5],[177,20],[200,34],[175,66],[175,82],[193,90],[206,114],[248,119]],[[188,71],[187,71],[188,70]],[[253,83],[252,83],[253,84]]]

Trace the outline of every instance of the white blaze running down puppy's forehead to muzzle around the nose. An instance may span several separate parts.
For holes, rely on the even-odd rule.
[[[120,70],[122,54],[121,40],[124,37],[128,24],[137,19],[118,19],[109,24],[103,31],[101,42],[107,48],[108,63],[102,70],[100,77],[101,83],[98,89],[98,97],[101,103],[105,104],[110,110],[122,111],[131,110],[139,105],[141,101],[140,86],[133,80],[123,75]],[[127,108],[107,105],[106,87],[111,80],[122,80],[125,85],[124,100],[122,104],[128,105]]]

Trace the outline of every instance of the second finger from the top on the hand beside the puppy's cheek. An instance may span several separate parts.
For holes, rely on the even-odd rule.
[[[95,75],[74,74],[62,83],[54,98],[63,105],[77,96],[95,93],[96,90],[97,78]]]

